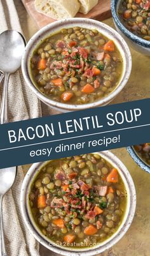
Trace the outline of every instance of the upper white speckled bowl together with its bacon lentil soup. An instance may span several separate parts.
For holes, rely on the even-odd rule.
[[[125,86],[131,68],[130,50],[114,29],[80,18],[43,27],[22,59],[32,91],[62,112],[107,105]]]

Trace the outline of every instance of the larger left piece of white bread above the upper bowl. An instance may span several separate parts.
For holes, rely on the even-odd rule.
[[[72,18],[78,13],[78,0],[35,0],[37,11],[56,20]]]

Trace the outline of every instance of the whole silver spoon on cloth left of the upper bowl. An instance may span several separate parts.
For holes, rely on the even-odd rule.
[[[0,34],[0,70],[4,73],[4,87],[0,110],[0,123],[8,121],[8,80],[11,73],[20,68],[22,54],[25,49],[25,38],[13,30],[6,30]]]

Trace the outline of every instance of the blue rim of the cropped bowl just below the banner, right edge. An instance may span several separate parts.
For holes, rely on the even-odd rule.
[[[141,169],[145,170],[146,172],[148,172],[150,174],[150,166],[147,165],[146,162],[142,161],[140,156],[138,156],[138,154],[133,149],[133,146],[126,147],[126,149],[127,149],[128,153],[130,154],[130,156],[132,157],[132,159],[135,161],[135,163],[137,163],[137,165],[139,165],[139,167]]]

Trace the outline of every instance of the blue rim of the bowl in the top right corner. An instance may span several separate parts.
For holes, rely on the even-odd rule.
[[[134,41],[135,43],[138,43],[142,47],[150,48],[150,41],[140,38],[139,36],[136,36],[136,34],[133,34],[131,31],[126,29],[126,27],[123,25],[123,23],[121,22],[121,20],[118,17],[118,13],[116,10],[119,2],[121,2],[121,0],[111,0],[111,12],[112,12],[113,19],[114,19],[114,22],[116,23],[116,25],[125,34],[125,36],[127,38]]]

